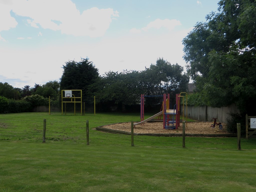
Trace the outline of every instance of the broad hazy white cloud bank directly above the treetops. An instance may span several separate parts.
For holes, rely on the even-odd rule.
[[[3,63],[0,77],[16,79],[10,82],[14,87],[22,88],[25,85],[34,86],[57,80],[62,75],[62,65],[69,60],[80,61],[81,57],[89,57],[100,74],[108,71],[145,70],[151,63],[156,63],[159,57],[172,64],[176,62],[185,66],[182,56],[182,39],[191,31],[168,31],[161,36],[154,34],[130,34],[122,37],[101,38],[97,42],[76,42],[72,44],[40,46],[40,48],[9,48],[0,45]],[[15,55],[15,57],[13,57]],[[106,63],[106,58],[111,58],[111,64]],[[50,61],[50,62],[49,62]],[[13,63],[24,63],[15,65]],[[49,70],[50,69],[50,70]],[[185,69],[185,68],[184,68]],[[28,73],[30,72],[30,73]],[[45,75],[47,74],[47,75]],[[1,82],[1,80],[0,80]]]

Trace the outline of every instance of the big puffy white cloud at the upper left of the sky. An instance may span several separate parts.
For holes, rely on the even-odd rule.
[[[18,16],[30,17],[27,22],[38,28],[61,30],[62,34],[74,36],[103,36],[110,23],[119,13],[111,8],[93,7],[80,14],[70,0],[13,0],[13,4],[0,2],[0,31],[16,27],[16,20],[10,16],[12,10]],[[60,6],[61,5],[61,6]]]

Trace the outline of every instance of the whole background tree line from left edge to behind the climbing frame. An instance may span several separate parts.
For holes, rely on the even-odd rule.
[[[82,102],[87,107],[94,104],[98,111],[139,111],[140,95],[163,95],[170,93],[175,103],[175,94],[186,91],[189,77],[183,67],[170,64],[158,58],[156,64],[142,71],[114,72],[109,71],[100,76],[98,69],[88,58],[81,61],[68,61],[63,65],[60,81],[49,81],[46,84],[13,88],[8,83],[0,83],[0,95],[9,100],[23,100],[31,106],[47,104],[51,100],[60,104],[61,90],[82,90]],[[159,111],[162,98],[148,98],[145,107]]]

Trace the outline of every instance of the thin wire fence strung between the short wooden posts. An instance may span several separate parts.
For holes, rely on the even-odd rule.
[[[90,145],[122,145],[131,146],[155,146],[155,147],[183,147],[181,136],[148,136],[126,134],[113,134],[95,130],[95,126],[86,127],[86,121],[70,121],[68,125],[60,126],[61,122],[49,121],[46,123],[45,142],[63,144],[87,144]],[[118,122],[89,122],[89,124],[113,124]],[[38,125],[28,121],[15,120],[12,124],[0,123],[0,141],[43,141],[43,123]],[[87,138],[88,128],[88,138]],[[145,128],[146,129],[146,128]],[[255,140],[242,139],[242,149],[256,149]],[[185,147],[237,149],[237,137],[185,137]]]

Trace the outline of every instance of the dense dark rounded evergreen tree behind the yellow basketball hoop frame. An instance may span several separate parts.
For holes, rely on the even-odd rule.
[[[82,90],[83,102],[93,103],[93,99],[87,94],[88,87],[99,78],[98,69],[88,58],[80,62],[68,61],[63,65],[63,74],[60,78],[60,90]]]

